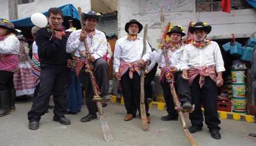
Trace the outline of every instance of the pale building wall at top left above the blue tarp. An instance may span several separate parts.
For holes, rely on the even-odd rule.
[[[8,0],[0,0],[1,18],[9,19]],[[81,7],[82,12],[91,10],[91,0],[34,0],[33,3],[18,5],[18,19],[30,17],[32,14],[46,12],[49,8],[73,4],[74,7]]]

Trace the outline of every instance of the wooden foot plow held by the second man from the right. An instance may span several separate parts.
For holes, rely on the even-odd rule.
[[[165,60],[165,66],[166,67],[170,67],[169,63],[168,63],[168,59],[167,59],[167,52],[166,52],[166,49],[165,49],[165,46],[164,46],[164,60]],[[170,84],[170,87],[172,87],[172,85]],[[179,105],[180,101],[178,99],[178,95],[176,93],[176,90],[175,90],[175,87],[173,86],[172,87],[172,90],[170,91],[173,95],[173,99],[174,99],[174,102],[175,102],[175,105]],[[175,107],[175,109],[177,110],[178,108]],[[190,110],[190,111],[187,111],[187,112],[191,112],[191,111],[194,111],[195,109],[195,105],[193,105],[193,109]],[[185,121],[185,118],[184,118],[184,115],[183,115],[183,111],[184,109],[179,109],[178,110],[178,113],[179,113],[179,118],[180,118],[180,121],[181,121],[181,125],[182,125],[182,130],[184,132],[184,134],[186,135],[188,141],[190,142],[191,145],[198,145],[196,140],[193,138],[193,136],[190,134],[190,132],[188,131],[187,129],[187,126],[186,126],[186,121]]]

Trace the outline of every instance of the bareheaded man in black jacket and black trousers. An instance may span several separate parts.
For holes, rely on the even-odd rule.
[[[72,66],[71,55],[66,53],[67,36],[62,25],[63,13],[58,8],[50,8],[47,16],[49,25],[36,33],[38,57],[41,75],[40,88],[33,99],[33,105],[28,112],[30,130],[39,128],[39,120],[45,114],[51,92],[54,94],[55,108],[53,120],[63,125],[70,125],[70,120],[64,115],[67,113],[67,90],[69,72]]]

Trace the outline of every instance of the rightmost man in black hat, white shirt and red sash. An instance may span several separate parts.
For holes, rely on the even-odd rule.
[[[185,46],[182,60],[182,78],[188,80],[192,95],[192,104],[195,104],[193,113],[189,113],[192,126],[190,133],[201,131],[203,114],[201,103],[204,106],[205,124],[208,126],[212,138],[221,139],[221,123],[217,111],[218,87],[223,85],[222,71],[225,71],[221,50],[217,42],[205,39],[210,33],[211,26],[205,22],[197,22],[189,27],[195,41]],[[216,74],[217,72],[217,74]]]

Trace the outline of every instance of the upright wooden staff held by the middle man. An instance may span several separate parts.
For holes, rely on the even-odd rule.
[[[144,29],[142,56],[145,54],[145,51],[146,51],[146,35],[147,35],[147,24],[145,25],[145,29]],[[150,128],[148,128],[147,120],[146,120],[144,70],[143,69],[141,69],[140,71],[140,116],[141,116],[141,124],[142,124],[143,130],[148,131]]]

